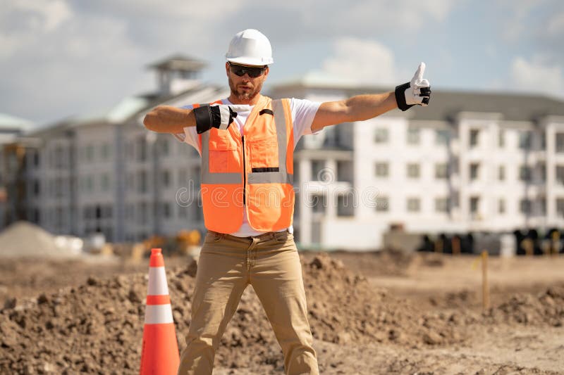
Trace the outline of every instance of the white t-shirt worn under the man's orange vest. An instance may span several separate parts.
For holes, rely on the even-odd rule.
[[[230,105],[233,104],[227,99],[223,99],[221,102],[223,104],[230,104]],[[315,114],[317,113],[317,109],[319,108],[320,105],[321,103],[308,101],[305,99],[296,99],[296,98],[290,99],[290,110],[292,111],[292,121],[294,126],[294,148],[298,144],[298,141],[300,140],[302,135],[314,134],[312,132],[312,122],[315,117]],[[235,119],[233,120],[233,122],[236,125],[238,125],[239,131],[242,136],[244,135],[243,126],[245,125],[245,122],[247,121],[247,117],[249,117],[251,110],[253,108],[253,106],[247,106],[247,107],[249,108],[249,110],[247,111],[238,110],[237,117],[235,117]],[[192,106],[184,106],[183,108],[191,109]],[[315,134],[317,134],[317,132]],[[202,155],[202,150],[200,150],[200,142],[198,141],[198,134],[196,131],[196,127],[185,127],[184,133],[173,134],[173,135],[176,136],[176,139],[178,139],[179,141],[183,141],[196,148],[198,153]],[[282,231],[284,230],[286,229],[282,229]],[[288,231],[292,233],[293,227],[290,226],[288,228]],[[248,237],[248,236],[258,236],[259,234],[263,234],[263,233],[264,232],[262,231],[255,231],[255,229],[252,229],[250,227],[249,220],[247,220],[247,210],[243,210],[243,224],[241,224],[241,227],[239,228],[238,231],[231,233],[231,235],[238,237]]]

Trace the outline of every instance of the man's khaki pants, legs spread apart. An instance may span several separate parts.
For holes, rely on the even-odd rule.
[[[223,331],[249,284],[282,347],[286,374],[319,374],[293,235],[235,237],[209,231],[200,252],[179,375],[212,374]]]

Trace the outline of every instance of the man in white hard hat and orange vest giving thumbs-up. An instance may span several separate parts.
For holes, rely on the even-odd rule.
[[[394,92],[313,103],[260,94],[274,61],[269,40],[257,30],[236,34],[226,59],[228,98],[204,106],[159,106],[144,121],[147,129],[175,134],[202,156],[208,233],[178,374],[212,374],[221,336],[248,284],[281,345],[286,373],[319,374],[292,235],[293,150],[303,134],[329,125],[426,106],[431,91],[422,78],[424,64]]]

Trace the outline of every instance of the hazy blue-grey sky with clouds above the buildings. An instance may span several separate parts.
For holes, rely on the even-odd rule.
[[[206,61],[225,84],[231,37],[269,37],[265,84],[314,72],[394,87],[419,62],[434,89],[564,101],[562,0],[0,0],[0,113],[37,125],[153,91],[147,65]]]

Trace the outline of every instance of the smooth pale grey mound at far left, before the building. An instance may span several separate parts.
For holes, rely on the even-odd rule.
[[[56,237],[30,222],[15,222],[0,233],[0,258],[73,258],[78,254],[58,246]]]

